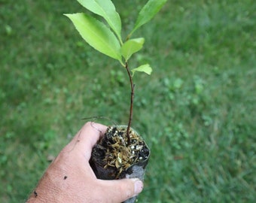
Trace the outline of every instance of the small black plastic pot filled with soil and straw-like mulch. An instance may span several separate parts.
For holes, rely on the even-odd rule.
[[[110,126],[105,135],[93,147],[90,165],[96,177],[116,180],[137,177],[144,180],[150,150],[145,141],[130,128],[130,143],[126,136],[127,126]],[[136,197],[124,202],[133,203]]]

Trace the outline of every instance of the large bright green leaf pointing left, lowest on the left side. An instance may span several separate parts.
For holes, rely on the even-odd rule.
[[[87,14],[64,14],[74,23],[82,38],[91,47],[121,61],[120,44],[111,30],[104,23],[99,22]]]

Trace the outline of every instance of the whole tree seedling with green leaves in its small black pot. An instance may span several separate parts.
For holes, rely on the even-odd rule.
[[[149,149],[143,139],[132,128],[134,83],[133,75],[136,72],[151,74],[152,68],[148,64],[130,69],[131,56],[142,50],[144,38],[131,38],[134,32],[148,23],[160,11],[167,0],[149,0],[139,12],[132,31],[121,36],[122,23],[111,0],[78,0],[87,10],[91,11],[98,19],[90,14],[65,14],[72,20],[81,37],[91,47],[100,53],[120,62],[130,80],[130,115],[128,125],[111,126],[105,136],[93,148],[91,165],[96,176],[101,179],[118,179],[133,177],[133,174],[148,163]],[[139,172],[140,173],[140,172]],[[144,172],[143,172],[144,174]],[[143,174],[135,175],[143,179]],[[136,198],[129,202],[135,201]],[[128,201],[126,201],[128,202]]]

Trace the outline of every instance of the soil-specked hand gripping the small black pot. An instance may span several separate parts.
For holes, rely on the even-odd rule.
[[[50,164],[27,202],[116,202],[142,192],[139,179],[99,180],[90,168],[92,148],[107,129],[86,123]]]

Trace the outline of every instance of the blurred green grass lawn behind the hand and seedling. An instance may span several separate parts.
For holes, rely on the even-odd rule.
[[[146,1],[113,1],[130,32]],[[128,120],[126,72],[84,43],[73,1],[0,0],[0,201],[23,202],[84,124]],[[133,128],[151,147],[139,202],[255,202],[256,4],[169,0],[134,37]]]

